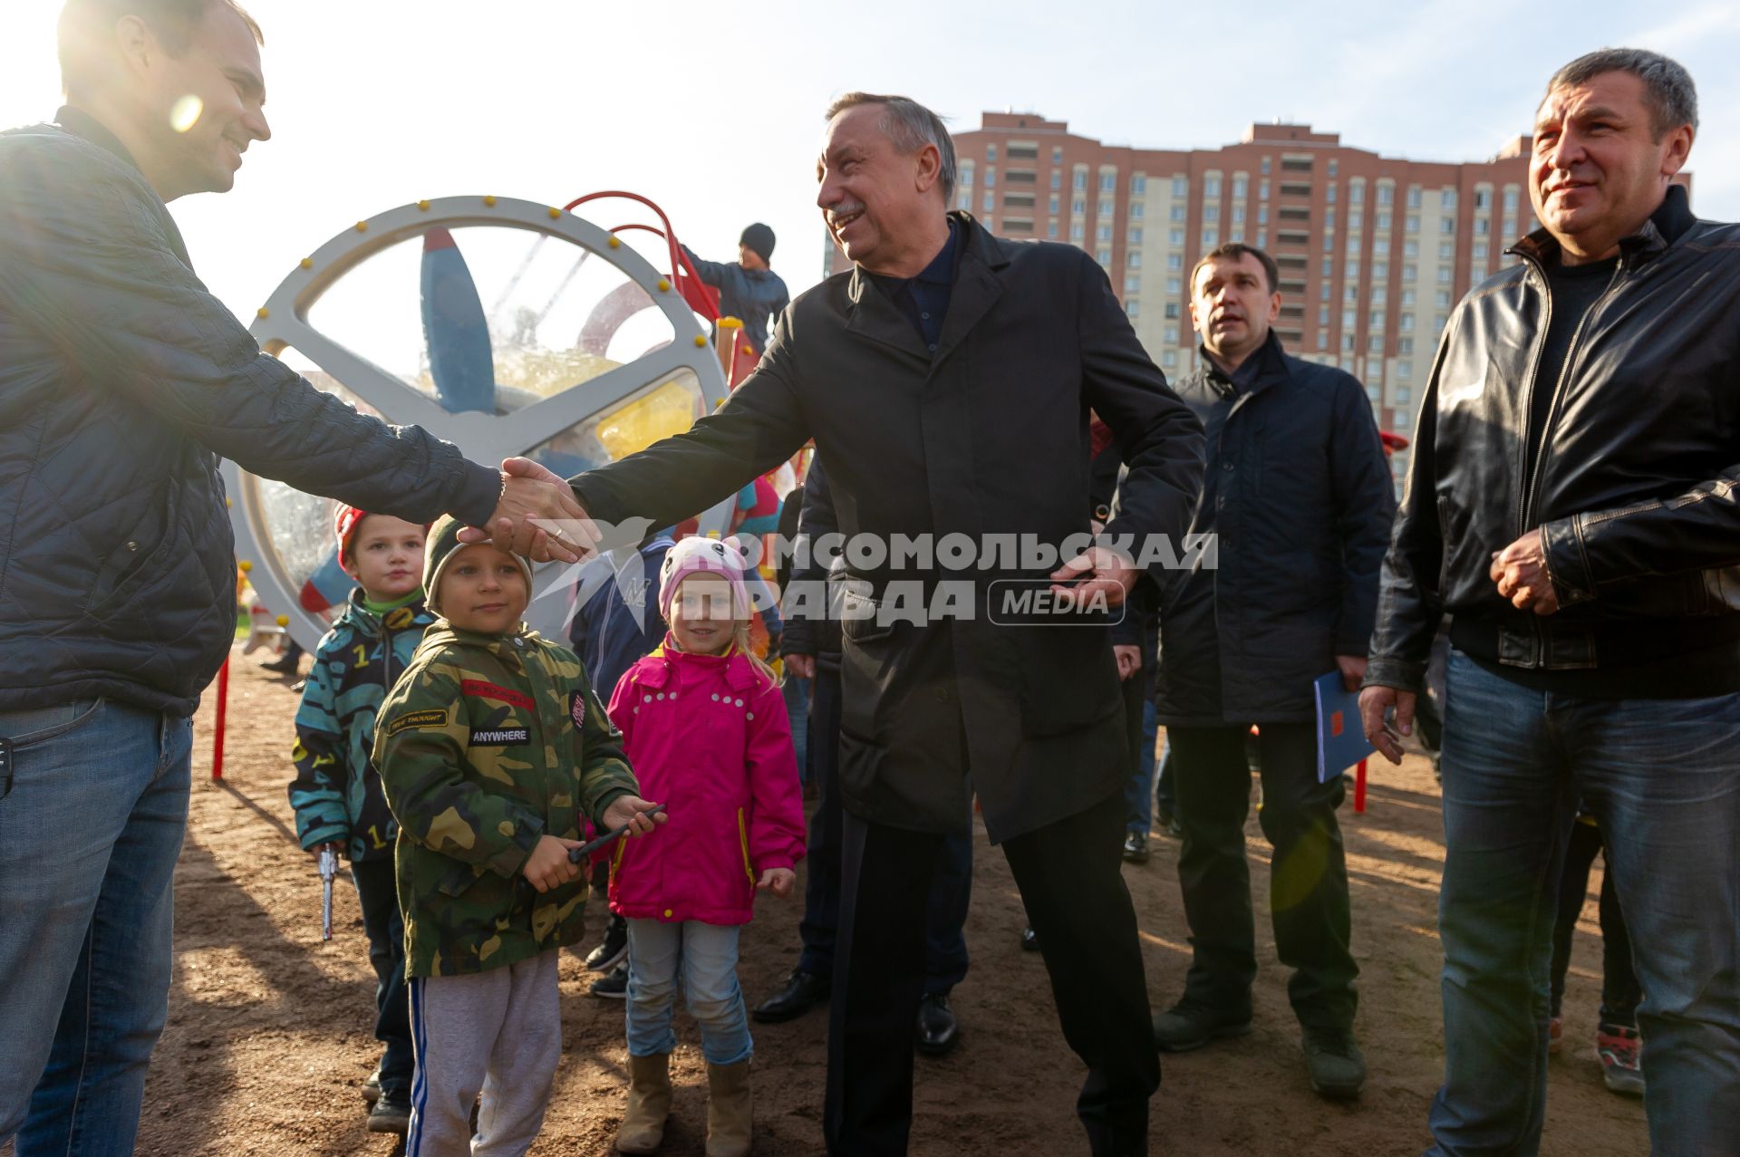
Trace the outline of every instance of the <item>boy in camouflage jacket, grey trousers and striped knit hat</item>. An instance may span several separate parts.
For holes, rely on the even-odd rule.
[[[557,948],[583,933],[581,825],[651,832],[654,806],[579,659],[520,614],[531,569],[442,518],[428,600],[442,616],[381,706],[374,759],[398,819],[418,1080],[407,1152],[524,1154],[562,1035]],[[663,819],[663,816],[659,816]],[[485,1082],[487,1079],[487,1082]]]

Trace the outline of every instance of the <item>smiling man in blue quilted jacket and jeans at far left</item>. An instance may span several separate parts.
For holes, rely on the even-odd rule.
[[[130,1154],[171,976],[191,715],[235,632],[218,458],[475,525],[578,513],[313,390],[167,202],[270,137],[235,0],[68,0],[66,108],[0,134],[0,1148]],[[555,553],[571,558],[572,552]]]

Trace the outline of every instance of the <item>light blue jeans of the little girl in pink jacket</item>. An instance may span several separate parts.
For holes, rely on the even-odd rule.
[[[628,920],[628,1054],[677,1047],[670,1030],[677,981],[701,1025],[708,1065],[736,1065],[755,1051],[743,988],[738,986],[738,929],[686,920]]]

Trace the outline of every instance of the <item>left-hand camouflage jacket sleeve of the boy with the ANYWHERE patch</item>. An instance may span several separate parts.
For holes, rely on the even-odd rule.
[[[376,713],[374,766],[405,839],[512,879],[543,818],[468,778],[470,734],[459,680],[437,663],[412,666]]]

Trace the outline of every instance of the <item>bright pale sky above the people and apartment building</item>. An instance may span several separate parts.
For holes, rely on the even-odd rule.
[[[0,124],[52,117],[59,0],[0,0]],[[1215,148],[1282,118],[1415,160],[1484,160],[1526,132],[1545,78],[1603,45],[1698,82],[1693,207],[1740,217],[1740,3],[1343,0],[1086,9],[1011,0],[251,0],[273,139],[226,195],[172,209],[195,268],[251,317],[358,217],[425,197],[566,204],[644,193],[701,256],[766,221],[792,292],[821,275],[821,110],[901,92],[974,129],[1035,111],[1141,148]],[[1068,26],[1060,12],[1082,12]],[[621,214],[612,214],[621,216]],[[618,221],[599,221],[612,226]]]

